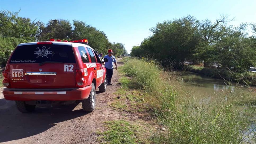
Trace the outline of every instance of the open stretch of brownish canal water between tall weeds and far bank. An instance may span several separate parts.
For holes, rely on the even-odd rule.
[[[203,102],[211,103],[221,97],[227,100],[231,95],[237,99],[245,96],[256,99],[255,89],[235,84],[229,85],[222,79],[213,79],[188,71],[182,72],[179,78],[183,80],[185,89],[197,100]]]

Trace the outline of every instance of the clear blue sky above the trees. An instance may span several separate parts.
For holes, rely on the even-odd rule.
[[[230,24],[256,23],[255,0],[0,0],[0,9],[19,11],[19,16],[47,23],[50,19],[85,21],[105,32],[110,42],[125,44],[130,53],[151,33],[158,22],[187,16],[198,20],[219,18],[221,14],[235,18]],[[90,42],[89,42],[90,43]]]

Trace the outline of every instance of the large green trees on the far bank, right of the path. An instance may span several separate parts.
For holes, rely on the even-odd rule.
[[[227,16],[210,21],[188,15],[157,23],[150,29],[152,35],[133,47],[131,56],[155,60],[168,69],[186,69],[184,61],[202,64],[208,70],[201,73],[217,72],[212,65],[218,64],[219,69],[234,73],[232,79],[254,83],[255,75],[247,70],[256,67],[256,24],[232,26],[230,21]]]

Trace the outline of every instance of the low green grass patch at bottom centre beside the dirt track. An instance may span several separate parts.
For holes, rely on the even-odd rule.
[[[101,143],[108,144],[136,144],[148,143],[143,138],[147,133],[139,124],[131,124],[125,120],[114,120],[104,122],[104,127],[107,128],[104,132],[98,132],[101,135],[98,139]]]

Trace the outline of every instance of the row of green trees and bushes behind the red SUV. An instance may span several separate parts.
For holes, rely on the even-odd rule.
[[[127,54],[122,43],[111,43],[107,35],[83,21],[55,19],[46,24],[41,21],[20,17],[19,12],[0,11],[0,66],[5,66],[12,50],[25,42],[49,41],[49,39],[79,40],[88,39],[95,51],[107,54],[108,49],[115,56]]]

